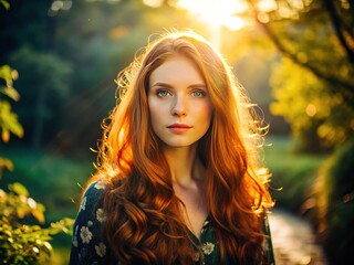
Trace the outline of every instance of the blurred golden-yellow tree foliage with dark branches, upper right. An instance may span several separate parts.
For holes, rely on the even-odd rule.
[[[354,3],[275,2],[266,13],[254,6],[283,55],[271,74],[271,112],[285,117],[299,150],[331,150],[354,131]]]

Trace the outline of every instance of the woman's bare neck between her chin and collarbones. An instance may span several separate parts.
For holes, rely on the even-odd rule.
[[[164,155],[175,183],[188,186],[191,181],[202,179],[204,166],[197,156],[197,145],[181,148],[165,148]]]

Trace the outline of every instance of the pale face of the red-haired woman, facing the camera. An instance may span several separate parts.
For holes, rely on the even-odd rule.
[[[212,105],[206,83],[186,57],[174,56],[149,77],[153,130],[168,147],[197,142],[210,126]]]

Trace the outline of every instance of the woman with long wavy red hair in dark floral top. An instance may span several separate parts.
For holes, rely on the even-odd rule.
[[[264,128],[218,52],[168,33],[117,84],[71,264],[272,264]]]

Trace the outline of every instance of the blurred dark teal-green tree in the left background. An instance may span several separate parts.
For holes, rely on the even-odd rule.
[[[39,148],[45,139],[45,121],[55,118],[69,95],[71,65],[55,53],[33,51],[28,46],[12,53],[10,63],[21,73],[17,86],[22,88],[21,104],[27,106],[18,108],[18,114],[23,126],[32,128],[32,131],[27,130],[31,146]]]

